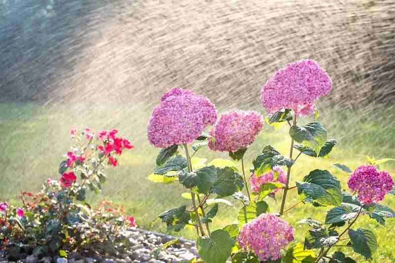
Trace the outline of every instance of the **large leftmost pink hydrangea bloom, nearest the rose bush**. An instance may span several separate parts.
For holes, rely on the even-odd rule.
[[[189,144],[216,120],[217,111],[209,99],[173,88],[162,96],[161,104],[152,113],[148,139],[158,148]]]

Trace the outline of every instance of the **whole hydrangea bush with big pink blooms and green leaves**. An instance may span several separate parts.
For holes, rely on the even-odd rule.
[[[280,69],[262,87],[261,103],[269,116],[232,110],[217,117],[214,105],[190,90],[174,88],[165,93],[155,108],[148,126],[152,145],[161,148],[154,173],[148,178],[156,183],[178,182],[190,193],[183,197],[191,206],[170,208],[158,215],[169,231],[194,227],[200,258],[207,263],[353,263],[344,253],[354,251],[371,259],[377,240],[370,229],[355,229],[361,217],[385,225],[395,212],[379,202],[394,193],[394,181],[375,160],[365,156],[367,165],[353,172],[342,164],[334,164],[349,173],[349,189],[327,170],[306,171],[290,185],[291,170],[299,164],[299,156],[322,158],[329,155],[336,140],[327,138],[326,129],[318,122],[300,124],[305,117],[318,113],[315,101],[332,88],[329,75],[313,60],[301,60]],[[217,120],[218,118],[218,120]],[[266,124],[264,124],[266,123]],[[270,145],[256,153],[251,168],[246,170],[244,154],[263,125],[280,127],[288,124],[289,153],[280,153]],[[214,125],[208,133],[204,130]],[[206,159],[196,156],[199,149],[227,151],[232,160]],[[241,169],[236,162],[241,163]],[[242,193],[245,188],[246,195]],[[250,191],[249,188],[252,188]],[[300,201],[287,202],[288,191],[297,191]],[[279,194],[279,193],[282,193]],[[279,210],[269,207],[266,198],[281,200]],[[220,207],[232,205],[225,197],[241,202],[235,222],[222,229],[212,229],[212,219]],[[326,207],[325,222],[301,218],[310,230],[305,240],[294,240],[296,225],[283,219],[295,207]],[[225,208],[226,209],[226,208]],[[342,247],[342,251],[338,248]]]

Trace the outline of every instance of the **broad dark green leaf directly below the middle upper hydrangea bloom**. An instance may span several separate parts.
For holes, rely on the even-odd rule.
[[[225,197],[240,191],[244,186],[244,181],[231,167],[218,168],[217,180],[213,184],[210,192],[216,193],[218,197]]]

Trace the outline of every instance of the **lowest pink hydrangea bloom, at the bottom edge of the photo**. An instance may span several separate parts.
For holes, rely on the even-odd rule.
[[[293,228],[275,214],[262,214],[243,225],[237,241],[241,248],[251,251],[260,261],[277,260],[281,249],[293,241]]]

